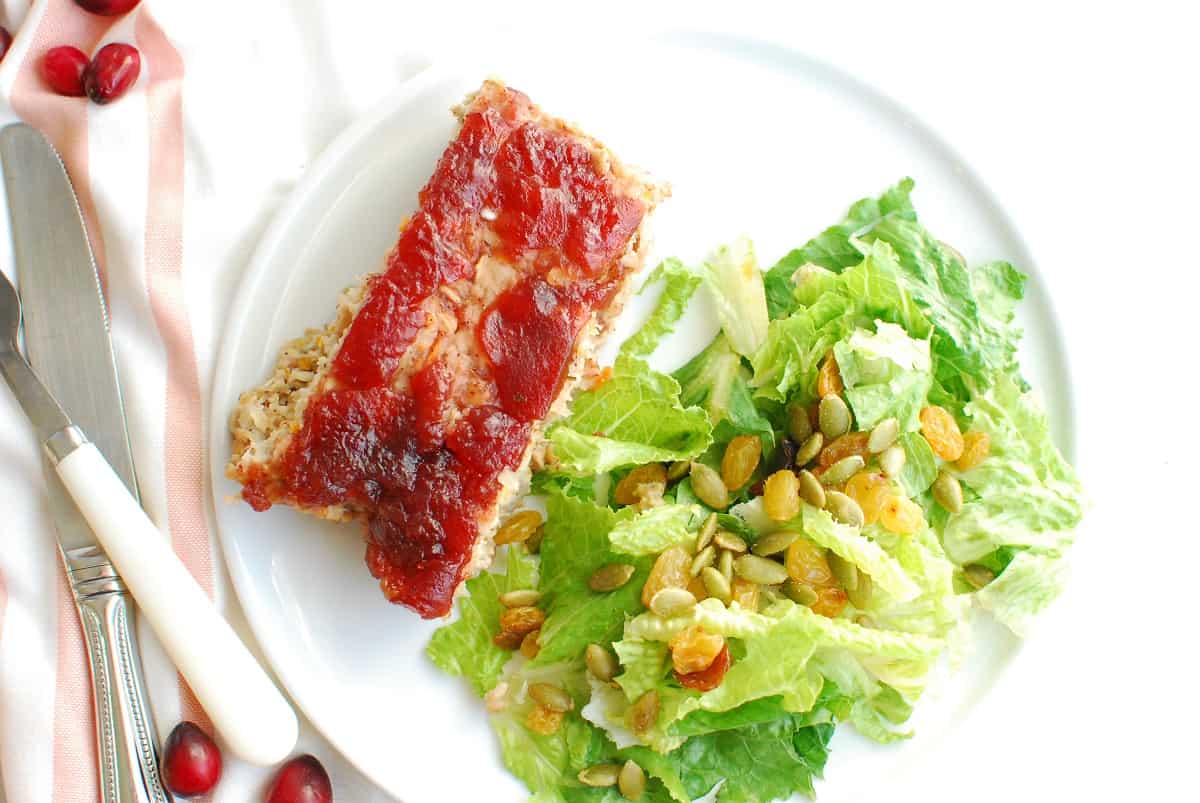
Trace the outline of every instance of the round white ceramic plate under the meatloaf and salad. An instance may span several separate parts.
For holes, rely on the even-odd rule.
[[[384,601],[362,563],[355,527],[287,509],[265,514],[224,498],[227,417],[245,388],[268,376],[280,346],[323,324],[338,290],[376,270],[401,217],[452,136],[449,108],[488,74],[578,121],[626,161],[671,181],[656,215],[656,254],[695,259],[739,233],[763,264],[840,218],[848,204],[904,175],[917,179],[926,224],[968,260],[1033,262],[1008,218],[962,161],[901,107],[854,79],[790,50],[718,37],[670,37],[638,47],[629,70],[607,56],[539,53],[422,73],[352,126],[312,168],[264,238],[238,294],[212,407],[212,484],[234,586],[274,669],[312,723],[346,756],[407,803],[517,801],[480,701],[424,654],[436,623]],[[551,68],[546,65],[552,64]],[[599,67],[596,65],[604,65]],[[636,72],[634,71],[636,68]],[[646,313],[626,311],[614,341]],[[1066,362],[1036,280],[1022,308],[1025,366],[1040,388],[1060,443],[1070,450]],[[712,336],[695,304],[655,362],[673,368]],[[842,729],[823,803],[877,799],[901,765],[936,747],[982,699],[1016,651],[977,622],[976,649],[918,707],[918,737],[878,748]]]

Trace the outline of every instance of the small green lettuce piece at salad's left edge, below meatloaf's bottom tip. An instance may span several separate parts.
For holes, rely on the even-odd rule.
[[[466,678],[479,696],[496,685],[512,657],[492,643],[504,611],[499,595],[538,583],[538,567],[523,547],[509,547],[506,563],[504,574],[482,571],[467,581],[468,593],[458,599],[458,619],[438,628],[425,648],[443,672]]]

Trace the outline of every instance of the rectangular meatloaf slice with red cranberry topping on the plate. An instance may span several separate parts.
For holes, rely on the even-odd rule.
[[[456,113],[383,270],[241,395],[226,469],[256,510],[362,522],[384,595],[424,617],[491,562],[665,196],[500,83]]]

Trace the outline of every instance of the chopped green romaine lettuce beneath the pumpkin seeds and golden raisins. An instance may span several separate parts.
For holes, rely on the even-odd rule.
[[[588,787],[577,774],[628,759],[646,771],[642,799],[650,803],[811,796],[836,724],[881,743],[911,735],[910,715],[935,666],[946,658],[956,666],[966,654],[972,604],[1021,634],[1061,591],[1085,501],[1020,377],[1014,314],[1025,276],[1004,262],[968,268],[918,221],[911,190],[905,179],[859,200],[766,274],[749,240],[719,248],[698,268],[664,260],[647,282],[661,286],[658,302],[611,376],[548,430],[548,468],[532,484],[546,498],[540,558],[506,550],[504,570],[468,581],[458,619],[428,647],[438,666],[491,693],[504,761],[534,801],[618,803],[616,789]],[[721,332],[673,376],[653,371],[643,358],[702,283]],[[708,508],[689,478],[673,481],[656,507],[610,504],[620,469],[715,465],[734,435],[760,437],[772,459],[787,431],[787,406],[815,401],[829,354],[857,431],[899,421],[906,460],[895,490],[917,501],[926,526],[904,535],[881,522],[852,527],[808,504],[791,521],[773,521],[750,490],[763,465],[720,513],[720,527],[751,544],[793,529],[851,564],[854,585],[850,569],[838,570],[848,586],[845,607],[823,616],[763,588],[752,607],[708,598],[672,618],[644,610],[656,556],[674,545],[695,550]],[[988,457],[961,471],[935,455],[918,415],[930,405],[946,407],[964,430],[986,433]],[[940,472],[962,485],[955,513],[930,493]],[[610,563],[632,565],[632,577],[613,592],[592,592],[588,579]],[[976,574],[965,570],[971,564]],[[980,569],[995,579],[976,589],[966,579]],[[499,594],[535,583],[546,621],[539,652],[527,659],[492,636]],[[673,672],[671,640],[692,627],[721,635],[732,658],[720,683],[703,691]],[[616,653],[616,683],[584,669],[592,643]],[[535,682],[556,683],[576,702],[552,736],[526,723]],[[649,691],[658,718],[635,733],[626,715]]]

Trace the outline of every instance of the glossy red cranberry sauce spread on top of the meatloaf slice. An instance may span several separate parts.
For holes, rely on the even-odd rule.
[[[498,477],[520,465],[582,326],[622,278],[618,258],[644,212],[617,194],[577,137],[530,121],[524,95],[485,92],[421,191],[385,275],[372,281],[332,382],[310,402],[284,455],[276,497],[365,510],[371,573],[388,599],[425,617],[449,612],[479,519],[499,496]],[[474,367],[491,371],[498,398],[456,417],[448,414],[454,377],[445,364],[415,366],[404,391],[395,373],[427,325],[422,302],[473,278],[485,253],[523,276],[475,329]],[[258,484],[244,496],[264,507]]]

